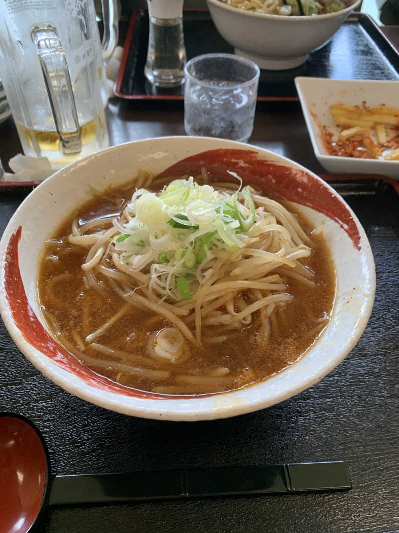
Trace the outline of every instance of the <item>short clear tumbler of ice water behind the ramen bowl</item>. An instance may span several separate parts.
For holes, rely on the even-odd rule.
[[[205,54],[185,66],[186,135],[247,142],[253,130],[259,67],[232,54]]]

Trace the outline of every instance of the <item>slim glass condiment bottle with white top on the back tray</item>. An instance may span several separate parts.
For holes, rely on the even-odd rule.
[[[149,33],[144,75],[158,87],[184,82],[186,49],[183,36],[183,0],[147,0]]]

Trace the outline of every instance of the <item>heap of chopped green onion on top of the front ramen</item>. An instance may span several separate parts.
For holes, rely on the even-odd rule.
[[[242,190],[240,177],[231,175]],[[159,194],[139,189],[129,204],[135,216],[115,236],[115,248],[132,269],[145,268],[157,278],[154,287],[160,297],[173,290],[178,300],[191,299],[200,286],[196,269],[208,257],[245,246],[242,227],[250,228],[255,216],[249,191],[243,191],[245,212],[250,212],[246,219],[237,214],[238,207],[244,211],[236,205],[238,191],[220,193],[211,185],[198,185],[192,176],[174,180]]]

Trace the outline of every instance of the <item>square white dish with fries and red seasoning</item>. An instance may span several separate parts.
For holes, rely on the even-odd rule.
[[[295,78],[319,163],[399,180],[399,82]]]

